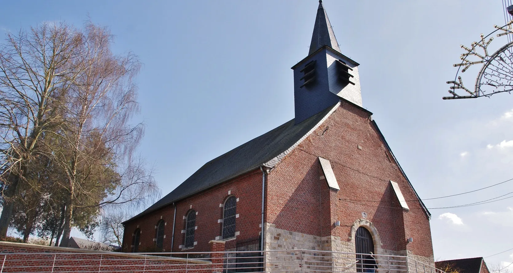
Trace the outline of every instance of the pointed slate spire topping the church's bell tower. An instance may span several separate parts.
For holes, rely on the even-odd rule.
[[[326,14],[326,10],[322,5],[322,0],[319,0],[319,8],[317,9],[317,17],[315,17],[315,26],[313,27],[312,41],[308,55],[317,51],[324,45],[340,52],[337,38],[335,38],[333,29],[329,23],[328,14]]]

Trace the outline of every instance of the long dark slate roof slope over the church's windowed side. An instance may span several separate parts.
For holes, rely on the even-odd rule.
[[[171,193],[124,223],[243,173],[258,169],[264,163],[291,148],[337,105],[338,103],[299,124],[294,124],[294,119],[291,119],[279,127],[210,160]]]

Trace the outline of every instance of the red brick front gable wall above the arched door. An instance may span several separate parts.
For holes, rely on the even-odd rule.
[[[326,180],[319,180],[319,156],[330,160],[340,191],[328,190]],[[390,180],[399,183],[409,211],[400,207]],[[343,103],[275,166],[267,183],[267,222],[277,228],[316,236],[331,233],[344,240],[350,236],[353,222],[366,212],[380,234],[383,248],[407,248],[428,257],[433,254],[429,219],[413,189],[368,114],[349,103]],[[340,227],[333,227],[335,220],[341,221]],[[413,237],[413,243],[406,245],[409,237]]]

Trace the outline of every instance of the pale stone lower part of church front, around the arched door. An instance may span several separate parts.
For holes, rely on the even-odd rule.
[[[435,273],[433,257],[415,255],[410,250],[384,249],[379,234],[376,230],[372,230],[370,222],[360,221],[363,223],[362,225],[366,224],[371,230],[374,238],[374,257],[378,263],[377,272],[406,273],[409,268],[410,272],[415,273]],[[268,271],[279,271],[287,268],[291,271],[303,269],[308,271],[357,272],[357,259],[354,254],[356,246],[352,237],[344,240],[344,238],[337,236],[313,236],[277,228],[271,223],[266,223],[265,227],[264,249],[282,250],[267,253],[265,263]],[[305,249],[305,251],[298,251],[297,249]],[[310,252],[308,250],[317,251]]]

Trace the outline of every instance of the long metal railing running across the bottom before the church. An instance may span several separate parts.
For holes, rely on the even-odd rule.
[[[3,256],[3,257],[2,257]],[[317,250],[195,253],[4,253],[0,273],[10,272],[294,272],[445,273],[405,256]]]

